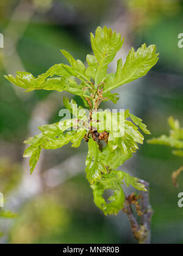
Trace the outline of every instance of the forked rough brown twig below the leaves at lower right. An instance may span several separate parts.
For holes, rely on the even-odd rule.
[[[149,189],[149,183],[139,180],[140,183],[145,185],[146,189]],[[123,211],[127,214],[129,222],[131,224],[132,233],[134,237],[138,240],[139,244],[150,244],[151,243],[151,217],[152,208],[149,204],[149,192],[140,192],[140,207],[142,215],[140,216],[140,223],[138,224],[137,218],[132,210],[131,202],[126,198],[124,203]]]

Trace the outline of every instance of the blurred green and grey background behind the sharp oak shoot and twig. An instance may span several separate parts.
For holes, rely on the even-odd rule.
[[[59,121],[62,97],[72,94],[33,91],[11,85],[3,75],[17,70],[39,75],[56,63],[66,63],[60,49],[85,61],[91,53],[90,32],[108,26],[125,37],[117,58],[142,43],[156,44],[159,62],[137,81],[115,90],[118,108],[129,108],[157,137],[168,133],[173,115],[183,126],[183,4],[176,0],[0,0],[0,192],[5,210],[16,218],[0,218],[1,243],[136,243],[125,214],[104,216],[93,203],[85,179],[87,143],[43,151],[34,173],[23,159],[23,141],[38,133],[37,126]],[[110,66],[115,70],[117,58]],[[82,104],[78,97],[74,97]],[[116,105],[103,104],[103,108]],[[171,172],[183,160],[165,146],[140,146],[121,170],[150,183],[152,243],[183,243],[183,208]]]

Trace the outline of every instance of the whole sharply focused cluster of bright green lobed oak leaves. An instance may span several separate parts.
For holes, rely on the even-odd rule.
[[[68,143],[77,148],[84,139],[88,142],[85,172],[93,189],[95,204],[104,214],[117,214],[124,203],[121,185],[132,185],[135,189],[145,190],[137,178],[117,168],[132,157],[138,149],[137,143],[143,143],[144,138],[139,129],[145,134],[150,132],[142,119],[129,113],[129,110],[111,113],[99,111],[98,108],[102,101],[112,100],[117,103],[118,94],[112,94],[111,90],[146,75],[156,64],[158,54],[156,45],[146,47],[144,43],[137,51],[134,48],[129,51],[124,64],[122,59],[118,60],[115,73],[107,73],[108,66],[121,49],[124,39],[107,27],[98,27],[95,36],[91,33],[90,39],[93,55],[87,55],[87,66],[81,60],[74,59],[67,51],[61,50],[70,66],[56,64],[37,78],[28,72],[17,72],[16,77],[8,75],[5,78],[26,91],[65,90],[82,98],[90,115],[87,116],[81,106],[76,110],[74,100],[70,102],[64,98],[63,104],[74,118],[38,127],[41,133],[24,141],[30,145],[24,152],[24,157],[30,157],[32,173],[41,149],[61,148]],[[113,190],[113,195],[106,202],[103,194],[108,189]]]

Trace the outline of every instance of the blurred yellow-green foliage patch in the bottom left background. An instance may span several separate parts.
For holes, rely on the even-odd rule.
[[[49,194],[40,195],[24,206],[10,233],[10,241],[33,243],[42,238],[44,242],[48,242],[49,236],[65,232],[69,224],[70,214],[65,207]]]

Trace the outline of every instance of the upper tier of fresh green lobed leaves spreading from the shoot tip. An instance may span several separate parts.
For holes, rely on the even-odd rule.
[[[117,94],[111,94],[110,90],[146,75],[158,59],[156,46],[149,45],[149,47],[146,47],[144,43],[137,51],[134,51],[134,48],[129,51],[124,65],[121,59],[118,60],[116,73],[107,75],[109,63],[113,61],[123,45],[121,35],[104,26],[103,29],[101,27],[96,29],[95,36],[91,33],[90,39],[94,55],[87,55],[87,68],[81,60],[76,60],[70,53],[61,50],[71,66],[56,64],[37,78],[28,72],[17,72],[15,78],[12,75],[5,75],[4,77],[11,83],[26,89],[26,91],[46,89],[71,92],[81,96],[84,104],[89,107],[87,99],[92,99],[92,93],[88,88],[91,91],[94,89],[91,79],[95,83],[95,89],[98,89],[98,86],[104,83],[102,100],[112,100],[113,103],[117,103]],[[82,83],[77,85],[73,77],[79,78]]]

